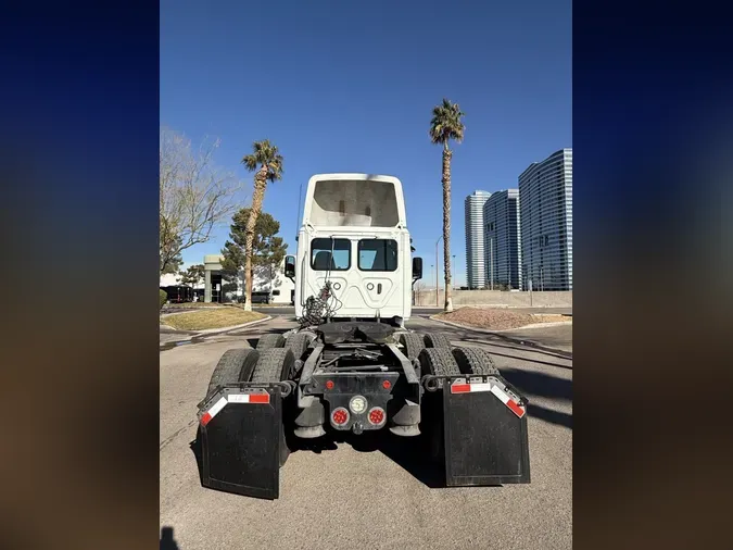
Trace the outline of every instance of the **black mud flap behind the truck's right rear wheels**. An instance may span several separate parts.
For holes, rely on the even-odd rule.
[[[527,400],[501,376],[443,385],[445,484],[530,483]]]

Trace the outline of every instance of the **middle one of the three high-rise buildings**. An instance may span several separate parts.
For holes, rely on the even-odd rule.
[[[483,205],[486,288],[521,289],[519,190],[491,193]]]

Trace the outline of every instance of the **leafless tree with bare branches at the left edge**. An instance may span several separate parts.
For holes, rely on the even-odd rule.
[[[193,149],[185,136],[161,127],[161,273],[177,270],[180,252],[206,242],[214,227],[225,224],[237,208],[235,199],[242,185],[233,172],[214,164],[218,147],[218,139],[204,139]]]

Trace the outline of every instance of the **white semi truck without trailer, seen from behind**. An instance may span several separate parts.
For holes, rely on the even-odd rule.
[[[277,499],[291,448],[339,433],[419,441],[445,487],[530,483],[527,399],[484,350],[407,327],[422,276],[410,249],[400,179],[309,179],[285,268],[298,326],[214,368],[198,411],[204,487]]]

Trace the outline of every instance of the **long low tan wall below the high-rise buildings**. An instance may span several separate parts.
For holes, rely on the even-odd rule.
[[[539,292],[509,292],[502,290],[454,290],[453,307],[460,305],[508,305],[515,308],[572,308],[572,290]],[[443,307],[445,295],[438,290],[439,308]],[[416,296],[415,305],[435,307],[435,289],[424,289]]]

